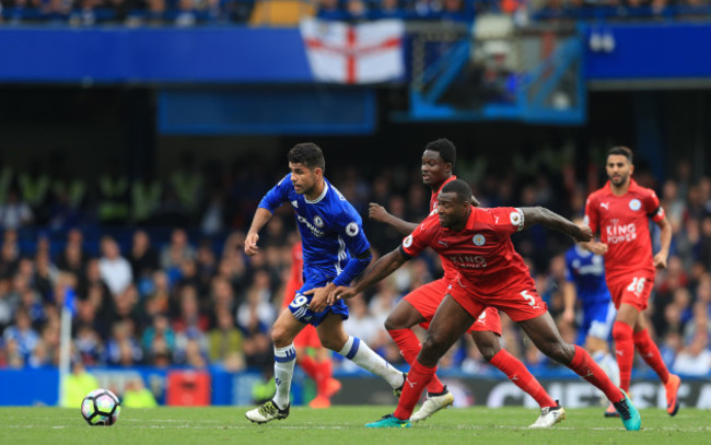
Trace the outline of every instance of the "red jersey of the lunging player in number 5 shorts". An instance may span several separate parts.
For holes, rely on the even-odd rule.
[[[535,288],[528,268],[511,243],[523,229],[520,209],[471,207],[463,231],[442,227],[436,213],[430,214],[401,244],[406,255],[417,256],[426,247],[446,259],[480,295],[502,295]]]

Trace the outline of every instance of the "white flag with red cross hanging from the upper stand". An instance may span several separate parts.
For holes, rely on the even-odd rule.
[[[405,74],[405,24],[399,20],[349,25],[306,19],[300,27],[316,81],[377,83]]]

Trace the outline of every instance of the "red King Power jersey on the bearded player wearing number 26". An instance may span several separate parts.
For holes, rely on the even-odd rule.
[[[654,190],[630,181],[627,194],[613,194],[609,181],[593,192],[585,203],[585,223],[608,246],[605,254],[607,278],[646,270],[654,274],[649,219],[660,222],[664,209]]]

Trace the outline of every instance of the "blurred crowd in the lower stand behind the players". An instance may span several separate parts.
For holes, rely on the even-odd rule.
[[[580,214],[586,195],[604,180],[603,160],[581,168],[564,150],[536,153],[513,156],[506,171],[462,156],[455,173],[475,185],[483,206],[540,204]],[[72,356],[90,366],[271,366],[269,329],[298,241],[289,209],[263,231],[258,255],[246,257],[243,243],[259,199],[285,172],[267,174],[256,162],[237,162],[230,172],[218,163],[199,169],[189,155],[183,161],[170,177],[150,181],[116,171],[92,184],[38,165],[0,169],[0,367],[57,365],[65,304],[73,311]],[[429,190],[417,168],[369,172],[333,165],[326,176],[363,215],[374,250],[385,253],[401,236],[368,221],[368,203],[420,221]],[[668,268],[657,273],[648,309],[654,335],[671,370],[709,375],[711,177],[693,179],[683,161],[664,181],[641,167],[636,179],[657,190],[674,229]],[[574,342],[576,327],[562,321],[560,291],[562,254],[572,242],[532,227],[514,243],[566,340]],[[404,294],[439,277],[438,261],[423,255],[351,300],[348,332],[404,364],[383,320]],[[512,354],[533,370],[553,366],[503,314],[502,323]],[[441,363],[467,373],[487,366],[468,337]]]

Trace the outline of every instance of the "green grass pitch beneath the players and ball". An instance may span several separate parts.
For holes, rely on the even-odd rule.
[[[294,408],[289,419],[257,425],[248,407],[124,409],[114,426],[89,426],[79,408],[0,408],[0,443],[51,445],[248,444],[711,444],[711,412],[642,410],[642,431],[627,432],[603,409],[571,409],[551,430],[528,430],[537,418],[524,408],[447,409],[411,429],[374,430],[363,424],[394,407]]]

